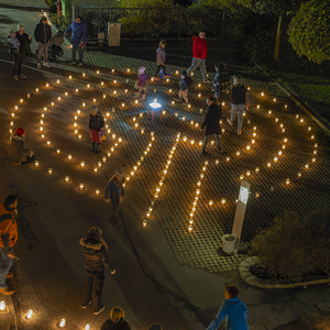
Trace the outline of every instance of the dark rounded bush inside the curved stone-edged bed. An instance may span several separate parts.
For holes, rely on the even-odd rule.
[[[305,217],[285,212],[257,232],[252,251],[271,277],[299,279],[307,275],[330,276],[330,209]]]

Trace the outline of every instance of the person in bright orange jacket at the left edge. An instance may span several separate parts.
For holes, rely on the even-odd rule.
[[[10,290],[6,279],[13,276],[9,273],[13,263],[13,248],[18,241],[18,223],[15,210],[18,207],[18,196],[8,195],[0,205],[0,294],[10,296],[14,290]]]

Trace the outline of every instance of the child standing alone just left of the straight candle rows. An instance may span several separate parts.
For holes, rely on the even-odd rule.
[[[122,170],[119,168],[116,170],[116,175],[113,175],[109,184],[105,190],[106,202],[112,204],[112,222],[119,224],[119,219],[117,217],[119,205],[125,198],[125,193],[123,190],[122,184],[124,183],[124,177]]]

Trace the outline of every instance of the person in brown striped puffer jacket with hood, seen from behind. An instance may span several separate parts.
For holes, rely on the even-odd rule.
[[[116,274],[116,270],[107,256],[106,250],[108,246],[102,240],[101,234],[102,231],[99,228],[91,227],[87,231],[86,238],[79,241],[85,254],[85,284],[82,288],[81,308],[86,308],[92,304],[94,315],[98,315],[105,309],[105,306],[101,305],[105,268],[107,267],[112,275]]]

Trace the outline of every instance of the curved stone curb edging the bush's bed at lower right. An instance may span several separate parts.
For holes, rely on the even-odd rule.
[[[308,285],[324,284],[324,283],[330,284],[330,278],[305,280],[305,282],[290,283],[290,284],[282,284],[282,282],[277,279],[257,278],[256,276],[252,275],[249,271],[251,266],[257,264],[261,264],[261,260],[258,258],[258,256],[250,256],[245,258],[243,262],[241,262],[239,265],[239,273],[241,279],[251,286],[255,286],[260,288],[282,289],[282,288],[294,288],[299,286],[308,286]]]

